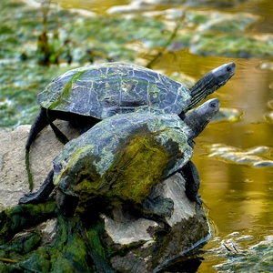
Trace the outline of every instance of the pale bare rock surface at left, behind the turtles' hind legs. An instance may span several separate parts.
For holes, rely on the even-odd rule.
[[[67,136],[76,137],[76,131],[66,122],[57,123]],[[25,170],[25,143],[30,126],[18,126],[13,131],[0,129],[0,211],[13,207],[29,191]],[[34,179],[34,191],[43,183],[52,168],[52,159],[63,145],[47,126],[33,143],[30,153],[30,167]]]

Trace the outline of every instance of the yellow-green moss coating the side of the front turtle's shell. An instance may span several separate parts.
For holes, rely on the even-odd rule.
[[[151,188],[162,180],[169,159],[166,147],[157,142],[154,134],[135,135],[117,147],[111,166],[101,176],[96,172],[96,164],[102,158],[94,157],[89,147],[76,150],[55,181],[79,197],[78,213],[84,213],[86,204],[92,205],[96,197],[113,206],[121,200],[141,204]],[[66,185],[62,187],[62,183]]]

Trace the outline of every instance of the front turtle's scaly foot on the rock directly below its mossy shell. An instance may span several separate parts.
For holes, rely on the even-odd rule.
[[[171,217],[174,212],[174,202],[171,198],[157,196],[146,197],[142,202],[144,213],[158,217]]]

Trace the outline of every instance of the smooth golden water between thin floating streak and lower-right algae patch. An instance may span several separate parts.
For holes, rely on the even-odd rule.
[[[197,158],[195,163],[201,173],[200,194],[218,235],[255,225],[271,228],[272,170],[227,165],[217,160],[206,160],[206,165],[202,165]]]

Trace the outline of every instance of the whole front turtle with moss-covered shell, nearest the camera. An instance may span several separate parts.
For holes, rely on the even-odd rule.
[[[188,180],[187,197],[201,205],[199,176],[191,162],[193,142],[218,108],[219,100],[214,98],[184,120],[175,114],[110,116],[66,143],[40,189],[25,194],[19,203],[44,201],[57,187],[56,203],[65,215],[106,200],[115,206],[131,204],[147,215],[170,217],[173,201],[153,199],[149,193],[181,171]]]

